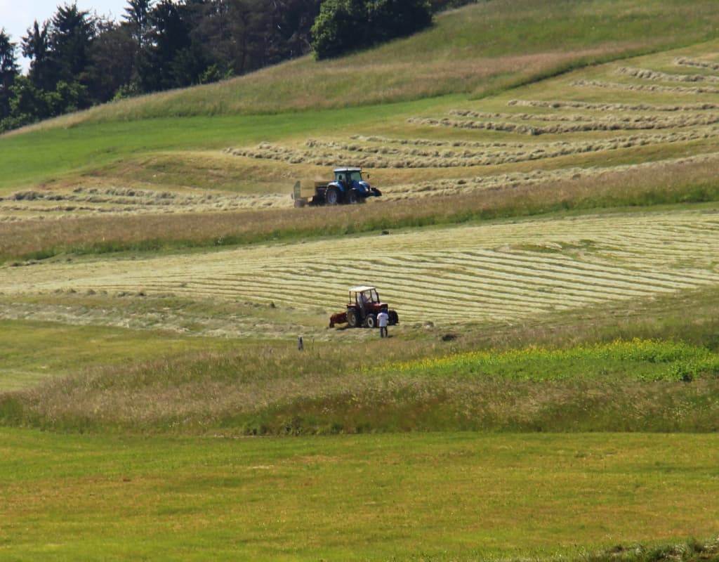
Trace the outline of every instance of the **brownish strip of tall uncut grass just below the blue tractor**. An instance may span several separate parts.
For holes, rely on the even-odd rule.
[[[719,201],[713,163],[657,164],[577,180],[334,208],[91,217],[0,223],[0,260],[228,247],[464,224],[540,214],[641,210]]]

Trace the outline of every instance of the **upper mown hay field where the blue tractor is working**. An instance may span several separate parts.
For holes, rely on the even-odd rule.
[[[719,89],[712,86],[719,80],[712,68],[717,48],[707,42],[582,68],[476,100],[444,96],[398,104],[394,111],[385,105],[234,124],[217,117],[214,136],[202,130],[193,142],[178,131],[170,140],[148,139],[143,150],[153,155],[141,151],[119,163],[103,161],[76,179],[7,191],[0,197],[0,221],[286,208],[294,181],[329,178],[343,163],[371,171],[387,200],[713,161],[719,150]],[[197,121],[192,127],[205,126]],[[160,144],[151,149],[154,142]],[[188,142],[191,149],[183,146]]]

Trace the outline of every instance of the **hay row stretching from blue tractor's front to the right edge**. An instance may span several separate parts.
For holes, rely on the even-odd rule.
[[[601,176],[631,171],[659,171],[664,166],[675,164],[719,163],[719,153],[695,155],[685,158],[672,158],[658,162],[626,164],[608,168],[560,168],[558,170],[534,170],[530,172],[509,172],[492,176],[475,176],[472,178],[446,178],[420,183],[406,183],[390,186],[385,190],[385,199],[403,199],[411,194],[444,194],[449,195],[461,191],[514,189],[548,182],[567,181],[580,178],[600,178]]]

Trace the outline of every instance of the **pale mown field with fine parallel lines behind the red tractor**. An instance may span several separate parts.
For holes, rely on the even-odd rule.
[[[352,255],[352,260],[347,256]],[[357,270],[362,263],[362,271]],[[291,245],[0,268],[0,292],[172,292],[342,309],[376,285],[403,322],[521,319],[719,283],[719,219],[656,212],[414,230]]]

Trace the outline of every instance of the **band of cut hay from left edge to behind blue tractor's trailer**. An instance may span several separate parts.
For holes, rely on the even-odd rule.
[[[290,201],[291,203],[291,201]],[[287,207],[286,195],[239,195],[205,192],[182,194],[119,187],[86,188],[72,191],[17,191],[0,196],[4,221],[42,218],[52,214],[139,214],[201,211],[229,211],[255,207]]]

